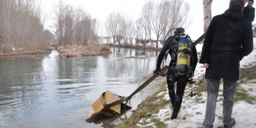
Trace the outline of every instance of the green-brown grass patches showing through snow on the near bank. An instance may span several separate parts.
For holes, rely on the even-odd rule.
[[[256,79],[256,66],[247,67],[240,69],[240,80],[237,82],[237,90],[235,94],[235,102],[238,101],[246,101],[250,104],[255,103],[255,97],[249,96],[247,94],[248,91],[250,91],[250,88],[248,90],[243,89],[240,87],[242,84],[247,83],[250,80]],[[166,108],[170,106],[170,101],[166,100],[164,98],[164,95],[159,95],[160,93],[167,93],[166,88],[166,82],[163,82],[161,85],[159,85],[159,88],[161,88],[158,92],[153,94],[152,96],[146,98],[141,104],[138,105],[138,108],[135,109],[133,114],[130,118],[122,120],[120,123],[116,124],[115,127],[117,128],[134,128],[134,127],[140,127],[140,125],[146,126],[146,127],[153,127],[150,125],[150,123],[155,123],[156,127],[161,128],[167,128],[167,124],[165,124],[164,121],[160,121],[157,117],[160,109]],[[191,92],[190,86],[188,85],[185,94],[184,99],[190,98],[189,93]],[[252,89],[251,89],[252,90]],[[221,90],[220,90],[221,91]],[[193,88],[194,95],[196,95],[194,98],[194,103],[204,103],[206,102],[205,98],[203,99],[202,93],[206,92],[206,79],[202,76],[200,79],[197,79],[196,84]],[[190,98],[191,99],[191,98]],[[223,95],[220,93],[218,100],[223,100]],[[171,114],[171,112],[168,112]],[[200,114],[201,115],[201,114]],[[150,121],[148,121],[150,119]],[[182,118],[185,120],[185,117]],[[169,118],[165,119],[170,120]],[[147,126],[147,124],[149,124]]]

